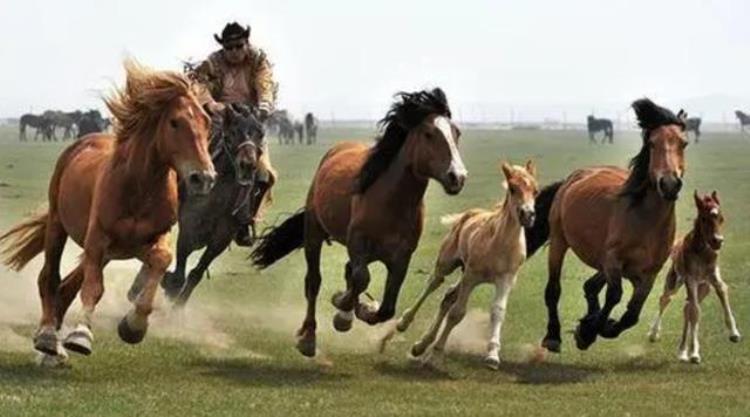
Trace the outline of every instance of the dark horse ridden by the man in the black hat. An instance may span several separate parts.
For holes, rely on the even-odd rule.
[[[216,185],[207,196],[188,197],[180,191],[177,265],[162,280],[165,293],[178,306],[187,302],[211,262],[237,234],[241,226],[237,212],[246,210],[248,204],[254,210],[260,203],[255,195],[255,170],[265,130],[255,110],[228,105],[213,113],[212,120],[210,150],[218,174]],[[186,280],[187,258],[201,248],[206,250]]]

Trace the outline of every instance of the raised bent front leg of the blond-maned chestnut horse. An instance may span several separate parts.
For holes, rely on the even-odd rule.
[[[136,298],[134,308],[120,320],[117,333],[126,343],[140,343],[148,330],[148,316],[154,308],[154,297],[159,288],[169,264],[172,262],[172,252],[169,250],[166,235],[162,235],[156,243],[148,248],[141,256],[145,267],[146,281],[143,290]]]

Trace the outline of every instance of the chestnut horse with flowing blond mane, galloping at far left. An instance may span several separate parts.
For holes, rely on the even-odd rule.
[[[154,295],[172,260],[167,234],[177,220],[178,178],[190,192],[206,194],[216,176],[199,87],[181,74],[152,71],[130,60],[125,71],[125,88],[105,99],[116,120],[114,137],[93,134],[68,146],[50,179],[48,210],[0,236],[3,262],[13,269],[44,252],[42,318],[34,348],[47,355],[65,355],[65,349],[92,352],[102,270],[116,259],[143,262],[138,273],[143,291],[118,326],[123,341],[143,339]],[[83,256],[61,282],[68,237],[83,248]],[[57,332],[79,290],[82,315],[63,348]]]

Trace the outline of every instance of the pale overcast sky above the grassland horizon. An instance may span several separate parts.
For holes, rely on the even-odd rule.
[[[750,110],[750,1],[0,0],[0,116],[101,107],[130,55],[181,68],[252,26],[280,103],[379,118],[441,86],[467,120],[626,117],[633,99],[720,121]],[[692,108],[690,108],[692,107]]]

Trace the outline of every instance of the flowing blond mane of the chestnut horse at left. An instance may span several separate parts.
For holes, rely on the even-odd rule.
[[[174,71],[154,71],[127,59],[125,87],[104,99],[113,116],[115,136],[125,142],[138,136],[150,137],[167,105],[185,96],[198,103],[204,88]]]

